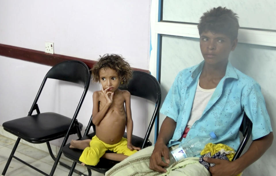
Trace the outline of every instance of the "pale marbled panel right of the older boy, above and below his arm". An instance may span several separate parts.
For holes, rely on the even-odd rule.
[[[270,116],[272,130],[275,131],[276,48],[238,43],[229,60],[234,67],[260,84]],[[251,142],[252,140],[250,139],[244,152],[247,151]],[[273,175],[274,173],[271,174],[271,172],[275,169],[271,163],[275,162],[274,148],[275,142],[260,159],[244,170],[243,175]]]

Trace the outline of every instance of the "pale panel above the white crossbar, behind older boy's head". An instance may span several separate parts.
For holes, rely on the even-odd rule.
[[[189,2],[174,0],[173,3],[170,0],[163,0],[163,2],[163,20],[198,23],[203,12],[222,6],[238,14],[241,27],[271,30],[276,28],[274,10],[276,2],[273,0],[193,0]],[[195,11],[202,13],[195,13]]]

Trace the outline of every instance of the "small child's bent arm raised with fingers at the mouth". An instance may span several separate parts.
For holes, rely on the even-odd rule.
[[[106,95],[107,89],[103,90],[103,93]],[[96,91],[93,93],[93,110],[92,110],[92,122],[94,125],[99,125],[101,120],[104,118],[106,115],[106,112],[108,111],[108,108],[112,104],[112,96],[113,94],[110,95],[111,98],[109,98],[111,101],[107,101],[104,107],[99,111],[99,92]]]

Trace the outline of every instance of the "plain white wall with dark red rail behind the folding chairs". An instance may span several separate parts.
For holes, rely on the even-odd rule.
[[[45,41],[54,42],[57,54],[96,60],[105,53],[118,53],[135,68],[148,69],[150,2],[136,1],[0,1],[0,43],[44,51]],[[0,125],[28,114],[38,88],[50,66],[0,56]],[[51,81],[38,102],[41,112],[73,116],[81,87]],[[92,113],[89,87],[78,115],[87,125]],[[68,93],[68,94],[66,94]],[[72,103],[70,102],[72,101]],[[133,134],[144,136],[147,107],[132,97]],[[145,111],[141,111],[145,109]],[[84,127],[85,129],[85,127]],[[73,137],[73,138],[76,138]],[[60,145],[61,140],[52,144]]]

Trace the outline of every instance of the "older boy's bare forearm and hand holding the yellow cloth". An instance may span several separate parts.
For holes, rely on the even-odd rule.
[[[235,176],[241,173],[246,167],[258,160],[264,152],[271,146],[273,141],[273,133],[254,140],[249,149],[238,159],[233,162],[227,160],[207,158],[204,160],[208,163],[215,163],[214,167],[210,167],[212,176]]]

